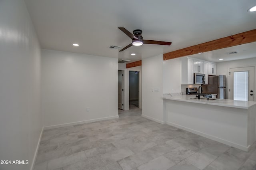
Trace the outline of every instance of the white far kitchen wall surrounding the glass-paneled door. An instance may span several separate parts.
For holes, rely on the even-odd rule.
[[[225,61],[225,62],[220,62],[217,63],[216,65],[216,71],[217,75],[226,75],[227,79],[227,85],[228,87],[229,84],[229,70],[230,68],[236,68],[236,67],[248,67],[248,66],[254,66],[254,91],[256,90],[256,57],[255,58],[250,58],[250,59],[240,59],[240,60],[234,60],[234,61]],[[227,89],[228,91],[228,89]],[[256,94],[256,93],[254,93]],[[227,97],[228,97],[228,92],[227,92]],[[255,97],[254,97],[255,100]]]

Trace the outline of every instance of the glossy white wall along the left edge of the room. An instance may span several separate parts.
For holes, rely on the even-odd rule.
[[[28,160],[1,170],[28,170],[42,130],[41,50],[23,0],[0,0],[0,160]]]

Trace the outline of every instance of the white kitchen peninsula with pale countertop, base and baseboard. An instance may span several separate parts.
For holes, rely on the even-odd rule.
[[[256,140],[256,102],[163,97],[165,123],[248,151]]]

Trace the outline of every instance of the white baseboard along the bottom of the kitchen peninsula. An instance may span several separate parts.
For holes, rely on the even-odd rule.
[[[175,123],[171,123],[171,122],[166,122],[167,125],[171,125],[171,126],[174,126],[176,128],[180,128],[180,129],[183,129],[183,130],[186,130],[188,132],[192,132],[192,133],[195,133],[195,134],[198,134],[200,136],[204,136],[206,138],[209,138],[209,139],[212,139],[212,140],[215,140],[217,142],[220,142],[220,143],[223,143],[223,144],[227,144],[229,146],[233,146],[235,148],[238,148],[238,149],[241,149],[241,150],[244,150],[246,152],[248,152],[248,150],[250,150],[250,145],[249,146],[242,146],[240,144],[237,144],[237,143],[234,143],[234,142],[230,142],[228,140],[224,140],[222,138],[218,138],[218,137],[215,137],[215,136],[211,136],[209,134],[205,134],[203,132],[199,132],[197,130],[193,130],[191,128],[187,128],[187,127],[184,127],[184,126],[180,126],[180,125],[177,125]]]

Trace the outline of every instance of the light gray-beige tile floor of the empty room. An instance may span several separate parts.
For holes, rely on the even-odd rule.
[[[141,117],[45,130],[34,170],[256,170],[250,152]]]

